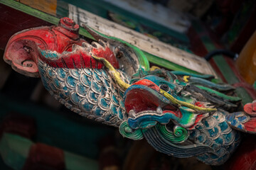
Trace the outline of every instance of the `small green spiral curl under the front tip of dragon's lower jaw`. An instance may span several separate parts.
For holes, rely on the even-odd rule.
[[[142,130],[134,130],[130,128],[127,121],[121,123],[119,126],[119,132],[123,137],[127,137],[132,140],[142,140],[143,138]]]

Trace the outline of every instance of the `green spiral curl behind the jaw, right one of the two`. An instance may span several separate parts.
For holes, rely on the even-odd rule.
[[[174,132],[168,130],[166,125],[157,124],[156,128],[161,132],[161,135],[163,135],[166,140],[173,143],[181,143],[188,139],[188,130],[180,126],[175,126]]]

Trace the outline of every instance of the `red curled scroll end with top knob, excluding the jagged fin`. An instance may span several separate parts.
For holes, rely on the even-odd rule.
[[[6,45],[4,60],[22,74],[38,77],[38,47],[62,53],[71,51],[72,45],[82,45],[79,26],[70,18],[61,18],[58,26],[38,27],[14,34]]]

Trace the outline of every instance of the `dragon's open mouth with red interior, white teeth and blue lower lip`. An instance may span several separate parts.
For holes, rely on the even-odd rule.
[[[131,128],[150,128],[156,123],[167,124],[170,119],[181,118],[179,109],[159,94],[157,89],[159,87],[156,84],[154,87],[133,84],[127,89],[124,94],[124,106]]]

